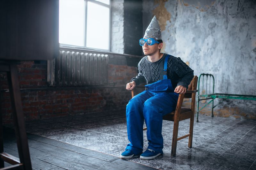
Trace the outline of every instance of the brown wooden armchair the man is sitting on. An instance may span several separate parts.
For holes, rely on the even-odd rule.
[[[193,80],[190,82],[187,92],[185,94],[180,94],[177,102],[177,106],[175,111],[168,113],[163,116],[163,120],[173,121],[173,133],[172,133],[172,151],[171,155],[176,155],[176,147],[177,141],[183,138],[188,138],[188,147],[192,147],[192,138],[193,138],[193,127],[194,127],[194,115],[195,115],[195,101],[196,101],[196,92],[197,90],[197,80],[198,77],[195,75]],[[132,91],[132,97],[134,96],[134,91]],[[191,99],[191,107],[181,107],[183,98],[192,98]],[[190,126],[189,133],[187,135],[181,136],[178,138],[178,130],[179,130],[179,121],[189,119],[190,118]],[[147,128],[143,128],[143,130],[147,130]]]

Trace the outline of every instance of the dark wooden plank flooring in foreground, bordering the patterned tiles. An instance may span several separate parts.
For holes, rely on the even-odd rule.
[[[129,160],[92,151],[38,135],[27,134],[32,168],[35,170],[150,170]],[[4,128],[4,152],[18,157],[14,131]],[[5,163],[5,166],[10,164]]]

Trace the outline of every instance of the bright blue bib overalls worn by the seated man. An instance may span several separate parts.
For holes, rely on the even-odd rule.
[[[145,85],[146,90],[134,96],[126,106],[127,135],[131,142],[126,149],[135,155],[143,151],[143,123],[147,126],[148,149],[163,154],[163,116],[175,110],[179,94],[167,79],[167,61],[164,60],[164,79]]]

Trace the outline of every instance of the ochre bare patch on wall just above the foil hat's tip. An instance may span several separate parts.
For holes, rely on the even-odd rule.
[[[158,6],[152,11],[153,15],[156,15],[159,26],[162,31],[165,30],[166,21],[171,21],[171,14],[167,11],[164,4],[168,0],[154,0],[154,4]]]

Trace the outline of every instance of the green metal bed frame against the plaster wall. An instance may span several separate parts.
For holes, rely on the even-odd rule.
[[[201,80],[201,78],[203,80]],[[206,80],[205,80],[206,79]],[[201,80],[201,81],[200,81]],[[211,83],[212,80],[212,83]],[[200,82],[202,82],[202,94],[200,94]],[[206,88],[205,88],[205,86]],[[212,88],[211,88],[212,86]],[[212,92],[211,92],[212,90]],[[224,93],[214,93],[214,76],[212,74],[200,74],[198,78],[198,95],[197,95],[197,113],[196,113],[196,122],[198,122],[198,114],[199,111],[204,109],[205,106],[212,103],[212,117],[213,117],[213,108],[215,108],[218,104],[214,106],[213,101],[216,98],[222,99],[241,99],[241,100],[256,100],[256,96],[251,95],[236,95],[236,94],[224,94]],[[199,102],[201,100],[210,100],[210,102],[206,103],[199,110]]]

